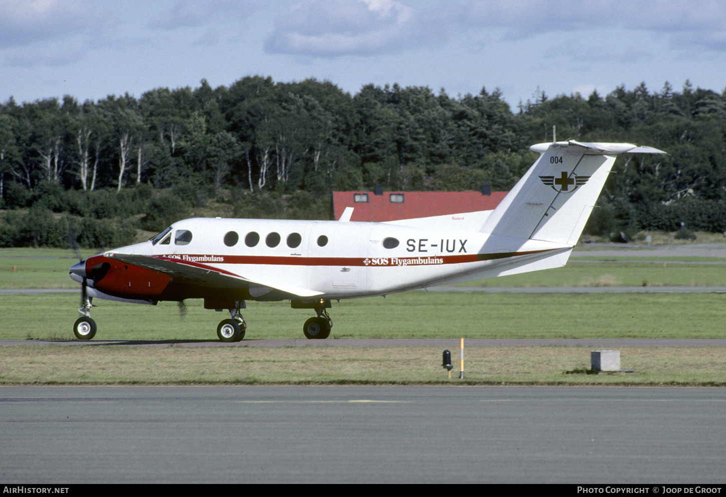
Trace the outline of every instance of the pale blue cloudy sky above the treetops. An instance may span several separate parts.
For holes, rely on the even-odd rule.
[[[722,0],[2,0],[0,101],[229,86],[245,75],[501,89],[515,110],[645,81],[726,87]]]

